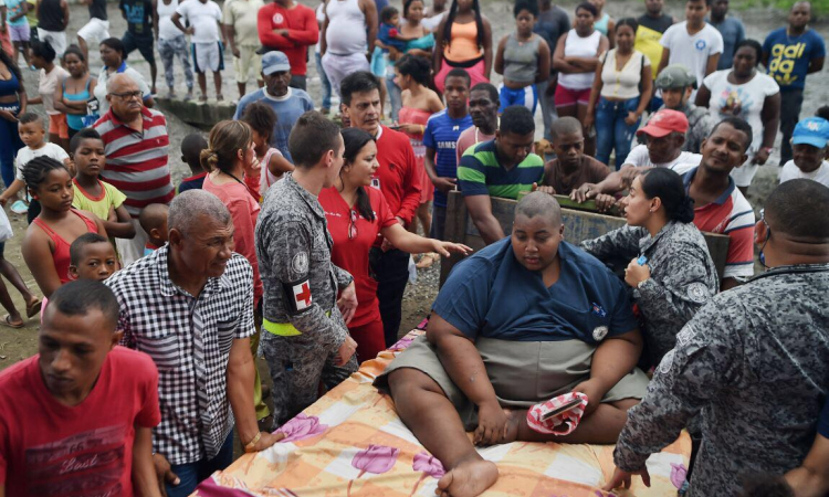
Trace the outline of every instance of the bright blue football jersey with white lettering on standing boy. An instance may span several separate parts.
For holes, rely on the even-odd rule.
[[[453,119],[449,117],[445,109],[432,114],[426,123],[423,145],[436,151],[434,169],[438,170],[438,176],[442,178],[458,177],[455,145],[458,138],[461,137],[461,133],[470,126],[472,126],[472,117],[469,114],[460,119]],[[445,193],[437,188],[434,189],[434,205],[447,207]]]

